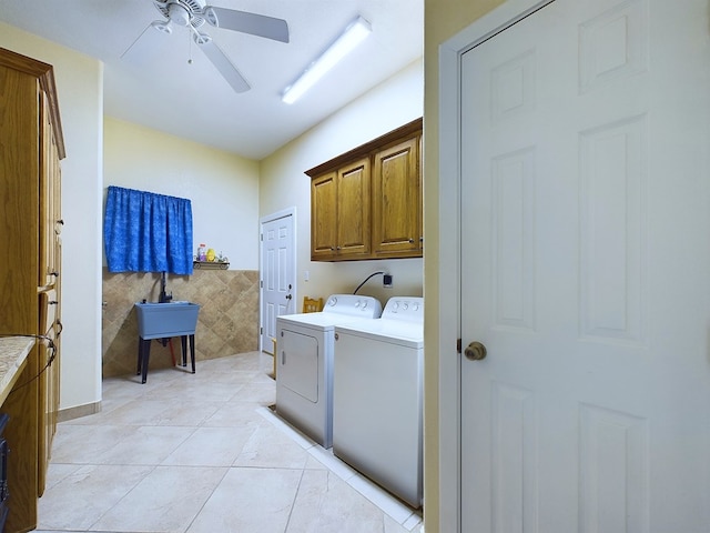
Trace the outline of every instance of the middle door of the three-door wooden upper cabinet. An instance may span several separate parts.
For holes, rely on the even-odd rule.
[[[337,245],[339,259],[368,255],[371,247],[369,158],[337,171]]]

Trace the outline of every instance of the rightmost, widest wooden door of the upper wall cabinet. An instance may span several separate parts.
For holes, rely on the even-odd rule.
[[[377,152],[373,169],[373,248],[377,257],[422,255],[419,140]]]

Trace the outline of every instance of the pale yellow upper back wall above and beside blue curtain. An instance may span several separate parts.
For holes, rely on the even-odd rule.
[[[195,250],[204,243],[230,270],[258,270],[256,161],[111,117],[103,135],[104,193],[116,185],[189,198]]]

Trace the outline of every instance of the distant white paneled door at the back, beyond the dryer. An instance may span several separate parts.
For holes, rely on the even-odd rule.
[[[261,222],[261,325],[260,349],[273,352],[276,316],[296,313],[295,238],[293,211]]]

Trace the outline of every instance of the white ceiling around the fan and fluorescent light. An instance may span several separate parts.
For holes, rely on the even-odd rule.
[[[268,155],[423,54],[423,0],[207,3],[288,23],[288,43],[202,28],[250,82],[248,92],[231,89],[186,29],[146,31],[131,48],[162,19],[151,0],[0,0],[0,20],[103,61],[108,115],[251,159]],[[283,89],[358,14],[373,33],[305,97],[283,103]]]

